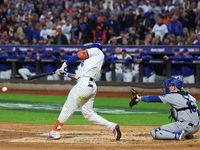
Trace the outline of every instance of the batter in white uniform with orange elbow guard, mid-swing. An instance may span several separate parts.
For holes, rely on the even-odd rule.
[[[66,67],[79,59],[84,60],[78,66],[76,74],[67,73]],[[60,129],[73,115],[78,106],[80,106],[86,120],[110,129],[113,131],[116,140],[121,138],[118,124],[109,122],[93,111],[94,98],[97,93],[95,81],[100,74],[103,61],[104,54],[102,52],[102,46],[98,43],[94,43],[89,49],[79,51],[76,55],[71,56],[57,71],[59,75],[77,79],[77,84],[69,92],[67,101],[62,108],[53,130],[47,136],[47,139],[55,140],[60,138]]]

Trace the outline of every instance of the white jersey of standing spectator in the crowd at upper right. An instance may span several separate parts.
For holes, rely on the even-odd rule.
[[[160,26],[158,24],[155,24],[153,26],[152,32],[155,33],[155,36],[159,35],[160,36],[160,41],[162,41],[164,35],[166,33],[168,33],[168,29],[167,29],[167,26],[165,24],[162,24]]]

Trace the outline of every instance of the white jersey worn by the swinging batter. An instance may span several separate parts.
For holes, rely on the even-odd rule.
[[[76,71],[76,79],[90,77],[96,80],[104,61],[104,54],[98,48],[86,49],[89,58],[80,63]]]

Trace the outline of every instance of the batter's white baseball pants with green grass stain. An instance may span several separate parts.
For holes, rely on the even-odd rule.
[[[96,92],[97,86],[94,81],[90,81],[86,77],[79,79],[77,84],[69,92],[67,101],[58,117],[58,121],[64,124],[73,115],[76,108],[80,106],[86,120],[104,126],[112,131],[116,124],[107,121],[93,111]]]

